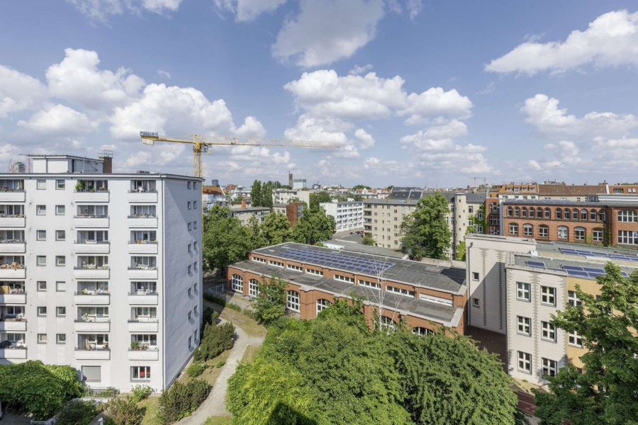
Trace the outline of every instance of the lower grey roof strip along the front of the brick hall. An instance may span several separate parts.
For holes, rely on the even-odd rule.
[[[241,261],[240,263],[232,264],[230,267],[238,268],[242,271],[250,271],[263,276],[280,276],[290,283],[300,285],[302,290],[323,290],[340,297],[349,297],[349,293],[352,293],[353,290],[357,295],[366,296],[369,299],[374,299],[373,294],[379,293],[379,290],[374,288],[353,285],[352,283],[342,282],[324,276],[299,273],[298,271],[286,268],[268,266],[267,264],[258,263],[257,261]],[[407,297],[405,295],[397,294],[395,297],[388,296],[387,294],[384,295],[384,301],[386,302],[381,303],[384,307],[399,312],[409,312],[414,316],[430,319],[433,322],[439,322],[448,327],[457,327],[463,314],[463,307],[439,304],[437,302],[420,300],[419,298]],[[379,300],[379,297],[376,297],[376,299]]]

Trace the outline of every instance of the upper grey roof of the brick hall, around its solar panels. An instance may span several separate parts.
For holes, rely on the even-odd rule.
[[[433,288],[442,292],[452,294],[462,294],[466,290],[465,282],[465,269],[455,267],[443,267],[434,266],[431,264],[420,263],[418,261],[402,260],[391,258],[389,256],[378,256],[372,254],[364,254],[362,252],[353,252],[345,250],[336,250],[330,248],[323,248],[321,246],[297,244],[295,242],[285,242],[284,244],[278,244],[273,246],[267,246],[265,248],[255,249],[255,254],[262,254],[267,256],[278,256],[282,259],[290,259],[293,261],[299,261],[295,259],[291,253],[293,249],[310,249],[312,251],[323,252],[327,254],[335,254],[341,256],[342,259],[364,259],[372,261],[386,261],[390,263],[388,268],[383,272],[383,278],[385,280],[392,280],[398,283],[406,283],[408,285],[417,285],[423,288]],[[342,270],[347,273],[353,273],[352,270],[347,268],[340,268],[339,266],[333,266],[325,261],[308,261],[303,260],[306,264],[312,264],[314,266],[320,266],[330,268],[331,270]],[[361,276],[370,276],[376,278],[374,273],[365,273],[354,271]]]

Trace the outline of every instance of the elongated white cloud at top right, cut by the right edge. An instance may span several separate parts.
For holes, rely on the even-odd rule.
[[[612,11],[574,30],[564,42],[539,43],[532,39],[485,66],[488,72],[566,72],[593,63],[598,67],[638,64],[638,12]]]

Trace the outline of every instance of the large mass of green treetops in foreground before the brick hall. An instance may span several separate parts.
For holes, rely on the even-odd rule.
[[[337,300],[311,321],[279,319],[228,382],[233,424],[515,424],[496,356],[463,336],[371,332]]]

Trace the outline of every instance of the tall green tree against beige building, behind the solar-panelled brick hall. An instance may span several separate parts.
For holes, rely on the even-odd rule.
[[[450,249],[452,232],[445,215],[449,212],[447,199],[440,193],[421,198],[417,209],[401,223],[403,246],[410,259],[420,261],[424,256],[445,259]]]

